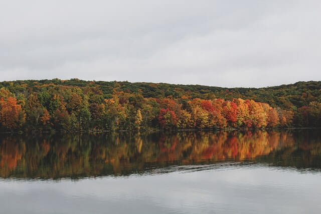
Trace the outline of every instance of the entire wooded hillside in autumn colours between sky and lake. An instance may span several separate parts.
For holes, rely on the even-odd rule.
[[[321,82],[266,88],[71,80],[0,82],[1,132],[321,127]]]

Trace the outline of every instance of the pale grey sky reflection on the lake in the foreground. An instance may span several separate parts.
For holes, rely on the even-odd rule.
[[[274,169],[1,180],[0,205],[3,213],[318,213],[320,173]]]

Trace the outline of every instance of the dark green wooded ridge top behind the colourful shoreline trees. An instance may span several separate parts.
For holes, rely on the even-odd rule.
[[[33,91],[37,91],[43,85],[62,85],[70,87],[98,87],[106,98],[111,97],[113,91],[123,91],[127,93],[139,93],[144,97],[163,98],[172,96],[180,98],[183,95],[191,98],[211,99],[233,98],[250,99],[257,102],[268,103],[273,107],[300,108],[308,105],[312,101],[321,102],[321,81],[297,82],[294,84],[280,85],[264,88],[224,88],[203,85],[177,85],[168,83],[130,83],[127,81],[85,81],[79,79],[71,80],[23,80],[0,82],[0,88],[10,88],[14,93],[19,93],[24,89],[22,85],[28,86]],[[37,87],[36,87],[37,86]],[[29,89],[29,90],[30,90]]]

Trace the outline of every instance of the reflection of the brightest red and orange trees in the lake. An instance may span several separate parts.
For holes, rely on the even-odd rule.
[[[284,137],[288,138],[288,136],[284,136],[286,133],[275,131],[256,131],[254,133],[248,131],[245,134],[227,134],[226,132],[217,134],[200,133],[200,135],[197,136],[195,133],[190,133],[185,140],[181,139],[181,141],[175,137],[160,138],[158,142],[160,155],[157,159],[163,161],[182,160],[184,159],[182,153],[191,148],[189,160],[223,160],[226,158],[242,160],[255,158],[260,155],[267,155],[280,146],[280,135],[282,135],[283,139]],[[291,141],[292,138],[290,137],[289,139]],[[181,146],[189,141],[192,141],[191,148]],[[293,145],[293,142],[290,144]],[[180,150],[182,148],[184,150]]]

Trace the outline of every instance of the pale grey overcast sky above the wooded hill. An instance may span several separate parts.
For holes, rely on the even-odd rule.
[[[0,1],[0,81],[321,80],[321,1]]]

